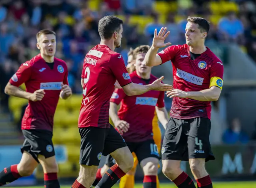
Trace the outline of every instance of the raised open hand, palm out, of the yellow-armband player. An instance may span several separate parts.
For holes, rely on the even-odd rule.
[[[167,42],[164,43],[164,40],[168,37],[168,35],[170,34],[170,31],[168,31],[166,33],[167,28],[161,28],[161,30],[159,31],[159,33],[157,34],[157,29],[155,29],[155,33],[154,33],[154,38],[153,38],[153,43],[152,46],[157,47],[157,48],[161,48],[161,47],[166,47],[171,45],[172,43]],[[165,34],[166,33],[166,34]]]

